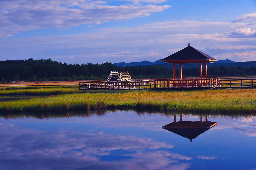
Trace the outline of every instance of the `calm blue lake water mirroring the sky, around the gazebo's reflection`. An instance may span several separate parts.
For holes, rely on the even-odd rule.
[[[183,115],[183,121],[200,116]],[[208,121],[218,124],[191,143],[163,129],[174,116],[161,114],[1,118],[0,169],[254,169],[256,117],[208,116]]]

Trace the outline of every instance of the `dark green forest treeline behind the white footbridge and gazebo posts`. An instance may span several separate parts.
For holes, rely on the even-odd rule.
[[[63,80],[98,80],[107,79],[111,71],[129,71],[132,78],[170,78],[172,68],[160,65],[118,67],[112,63],[104,64],[67,64],[51,59],[27,59],[0,61],[2,82],[25,81],[63,81]],[[204,68],[203,68],[204,70]],[[208,76],[256,76],[256,67],[215,66],[208,68]],[[204,71],[202,71],[204,73]],[[198,68],[183,68],[185,77],[199,77]],[[176,76],[179,70],[176,69]]]

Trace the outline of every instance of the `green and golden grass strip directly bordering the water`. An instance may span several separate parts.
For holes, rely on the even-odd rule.
[[[48,89],[49,90],[49,89]],[[256,113],[256,90],[104,91],[0,102],[0,112],[143,110],[190,113]]]

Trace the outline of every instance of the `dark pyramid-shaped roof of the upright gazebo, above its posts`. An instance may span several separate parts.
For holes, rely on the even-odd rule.
[[[182,50],[169,55],[168,57],[161,59],[162,62],[168,63],[204,63],[217,61],[215,58],[197,50],[189,45]]]

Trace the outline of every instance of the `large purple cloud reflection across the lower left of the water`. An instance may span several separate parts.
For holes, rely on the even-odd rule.
[[[150,138],[25,129],[10,123],[0,127],[0,169],[186,169],[190,164],[180,161],[192,159],[163,151],[174,146]],[[116,150],[125,153],[116,154]],[[102,155],[113,156],[112,151],[117,162],[101,161]]]

